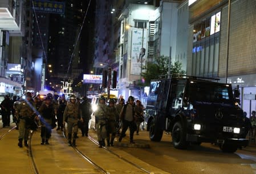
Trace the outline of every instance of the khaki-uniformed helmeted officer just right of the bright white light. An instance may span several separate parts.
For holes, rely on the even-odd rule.
[[[105,138],[107,137],[107,120],[108,120],[108,107],[105,104],[105,97],[99,97],[99,103],[97,104],[97,110],[95,111],[95,122],[97,131],[97,140],[99,141],[99,147],[105,146]]]

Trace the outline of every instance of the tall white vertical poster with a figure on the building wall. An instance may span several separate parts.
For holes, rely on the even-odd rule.
[[[147,59],[147,29],[136,28],[132,30],[132,46],[131,46],[131,74],[140,75],[141,65],[145,66]],[[142,39],[142,37],[144,39]],[[143,40],[143,45],[142,45]],[[143,46],[143,47],[142,47]]]

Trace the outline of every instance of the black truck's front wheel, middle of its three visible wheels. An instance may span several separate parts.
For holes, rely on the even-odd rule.
[[[186,148],[186,132],[180,122],[176,122],[172,129],[172,143],[175,148]]]

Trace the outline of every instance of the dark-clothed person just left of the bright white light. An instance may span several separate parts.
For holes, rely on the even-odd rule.
[[[88,102],[88,98],[86,96],[83,97],[83,102],[79,105],[79,113],[81,117],[81,131],[82,136],[86,135],[88,136],[89,131],[89,120],[91,119],[92,109],[91,104]]]

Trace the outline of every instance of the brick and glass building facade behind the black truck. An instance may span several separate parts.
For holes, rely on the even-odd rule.
[[[231,1],[230,26],[228,1],[201,0],[189,6],[187,73],[239,85],[248,115],[256,109],[255,100],[244,96],[256,94],[255,5],[251,0]]]

